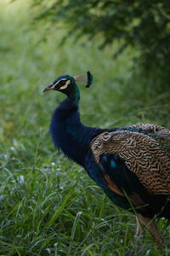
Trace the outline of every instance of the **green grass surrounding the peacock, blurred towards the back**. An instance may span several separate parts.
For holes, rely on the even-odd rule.
[[[81,89],[83,123],[137,122],[170,127],[170,95],[153,80],[132,76],[128,52],[118,60],[95,43],[59,47],[60,31],[31,26],[25,1],[0,2],[0,255],[134,255],[135,218],[109,201],[81,167],[54,150],[48,124],[63,96],[41,94],[61,74],[94,73]],[[137,67],[136,67],[137,68]],[[169,255],[170,230],[156,251],[146,232],[139,255]],[[161,254],[160,254],[161,253]]]

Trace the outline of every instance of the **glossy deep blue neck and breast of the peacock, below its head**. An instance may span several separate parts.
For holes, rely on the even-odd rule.
[[[50,125],[55,146],[81,166],[84,166],[89,143],[99,131],[82,125],[78,105],[68,97],[55,109]]]

